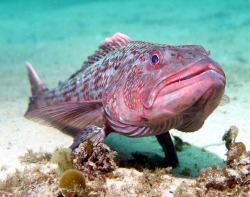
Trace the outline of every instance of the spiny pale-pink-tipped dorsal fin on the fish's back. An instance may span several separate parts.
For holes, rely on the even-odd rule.
[[[97,61],[104,58],[109,53],[119,49],[122,46],[125,46],[132,40],[122,33],[116,33],[112,37],[106,38],[102,43],[99,45],[99,48],[95,53],[88,57],[88,60],[83,63],[82,68],[77,71],[75,74],[73,74],[70,78],[75,77],[79,72],[82,72],[89,66],[92,66]]]

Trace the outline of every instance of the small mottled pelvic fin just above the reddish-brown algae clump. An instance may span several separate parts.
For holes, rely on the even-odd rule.
[[[90,139],[92,142],[103,142],[108,135],[108,131],[105,128],[97,126],[87,126],[84,130],[75,136],[73,144],[70,146],[72,150],[77,148],[81,143]]]

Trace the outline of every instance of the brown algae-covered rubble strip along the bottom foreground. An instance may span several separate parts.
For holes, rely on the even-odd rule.
[[[85,191],[85,196],[168,197],[172,196],[174,190],[176,197],[250,196],[250,151],[246,152],[243,143],[235,142],[237,131],[236,127],[231,127],[223,137],[228,148],[227,167],[219,169],[214,164],[212,168],[201,170],[200,177],[197,179],[174,177],[169,174],[168,168],[155,168],[153,163],[150,163],[148,155],[140,153],[133,154],[134,159],[128,161],[128,165],[118,158],[124,168],[118,164],[119,167],[116,169],[114,161],[116,152],[111,151],[103,143],[93,143],[91,140],[75,149],[70,158],[67,154],[66,158],[68,161],[73,160],[73,168],[80,170],[80,173],[85,176],[86,182],[82,181],[84,184],[80,184],[80,188],[84,188],[84,185],[89,188]],[[25,162],[25,169],[8,175],[4,181],[0,181],[0,196],[36,197],[41,194],[42,196],[67,196],[62,191],[64,186],[59,184],[59,177],[55,174],[56,165],[49,162],[50,157],[48,153],[32,151],[20,157],[20,160]],[[59,157],[65,159],[64,156]],[[59,162],[60,165],[62,165],[61,162]],[[141,172],[134,169],[136,166],[139,166],[138,169]],[[189,173],[188,169],[186,173]],[[82,177],[81,174],[80,177]],[[73,183],[73,187],[78,188],[78,186],[79,184]]]

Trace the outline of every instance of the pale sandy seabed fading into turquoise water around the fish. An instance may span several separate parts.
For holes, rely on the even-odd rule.
[[[218,163],[226,149],[222,136],[239,128],[237,141],[250,149],[250,1],[14,1],[0,2],[0,178],[23,168],[27,149],[53,152],[72,138],[23,117],[30,85],[25,61],[49,88],[66,80],[116,32],[133,40],[170,45],[202,45],[227,76],[230,103],[218,107],[195,133],[171,131],[192,146],[178,152],[180,167],[198,170]],[[122,156],[131,152],[163,155],[156,138],[110,135],[107,144]],[[205,151],[204,151],[205,148]]]

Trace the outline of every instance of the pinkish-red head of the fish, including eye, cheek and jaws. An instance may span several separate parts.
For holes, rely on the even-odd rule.
[[[120,71],[123,77],[117,72],[119,80],[109,92],[116,95],[115,107],[106,109],[132,125],[158,124],[184,112],[205,120],[225,89],[223,70],[208,56],[198,45],[151,44],[130,51]]]

